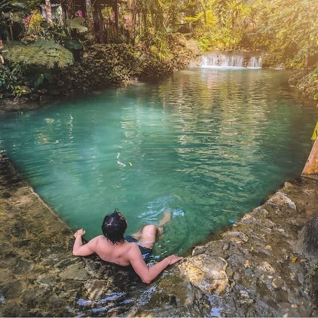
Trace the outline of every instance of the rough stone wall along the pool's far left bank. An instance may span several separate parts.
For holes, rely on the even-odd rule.
[[[162,52],[155,47],[147,49],[130,44],[91,45],[86,47],[80,62],[62,69],[47,70],[52,75],[51,83],[45,80],[34,87],[33,82],[24,76],[27,93],[20,98],[14,99],[9,90],[0,87],[0,105],[47,101],[100,90],[131,79],[143,80],[173,73],[189,66],[190,60],[199,54],[197,45],[181,34],[171,34],[167,41],[168,47]]]

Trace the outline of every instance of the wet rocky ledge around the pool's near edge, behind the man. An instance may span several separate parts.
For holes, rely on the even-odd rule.
[[[299,237],[318,183],[297,179],[149,285],[72,256],[73,233],[0,157],[1,316],[317,316],[317,258]]]

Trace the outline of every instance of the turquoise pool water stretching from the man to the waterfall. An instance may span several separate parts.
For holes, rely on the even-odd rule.
[[[318,109],[288,75],[190,68],[6,114],[1,148],[87,239],[116,207],[128,234],[170,209],[155,253],[182,253],[300,174]]]

